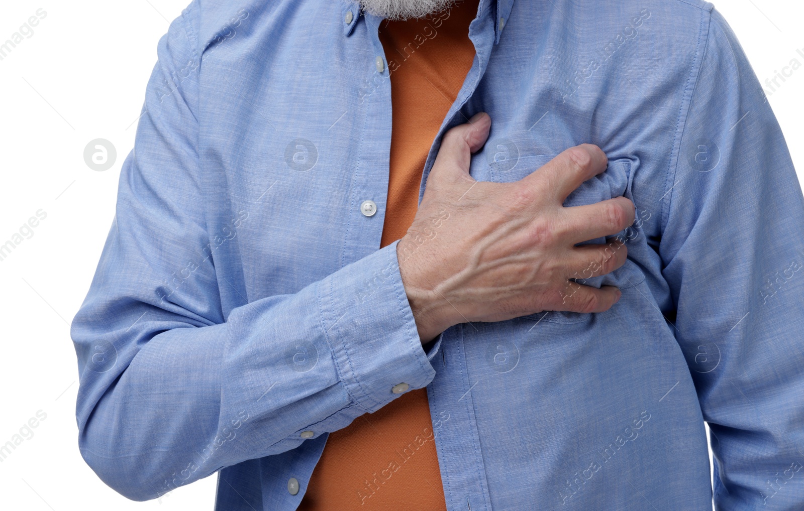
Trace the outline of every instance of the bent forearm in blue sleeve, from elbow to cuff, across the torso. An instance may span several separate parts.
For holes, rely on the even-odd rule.
[[[91,291],[73,330],[84,354],[78,417],[88,464],[146,500],[295,448],[310,438],[302,431],[345,427],[396,398],[398,383],[426,386],[435,373],[393,271],[395,249],[234,309],[220,325],[194,326],[136,301],[125,315],[145,316],[109,329],[121,300]],[[93,362],[101,339],[116,346],[114,363]]]

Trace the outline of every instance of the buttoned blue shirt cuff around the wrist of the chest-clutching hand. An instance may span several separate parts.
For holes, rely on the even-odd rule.
[[[351,399],[374,412],[435,377],[404,291],[398,241],[344,267],[319,284],[324,337]],[[337,278],[335,278],[337,276]]]

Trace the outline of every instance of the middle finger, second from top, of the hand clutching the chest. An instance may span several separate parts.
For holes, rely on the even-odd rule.
[[[587,206],[564,207],[561,210],[562,230],[573,244],[589,239],[616,235],[634,223],[634,202],[625,197]]]

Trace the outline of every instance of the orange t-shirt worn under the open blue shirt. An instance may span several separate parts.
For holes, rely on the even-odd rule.
[[[383,247],[416,215],[427,153],[474,60],[477,11],[478,0],[465,0],[429,18],[380,24],[393,108]],[[427,391],[411,390],[330,433],[298,509],[445,511]]]

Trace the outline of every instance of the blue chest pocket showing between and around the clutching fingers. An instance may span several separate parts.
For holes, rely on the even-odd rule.
[[[531,154],[519,152],[516,145],[507,145],[506,141],[492,143],[484,148],[484,155],[481,161],[486,162],[491,181],[494,182],[515,182],[525,178],[528,174],[538,171],[541,166],[551,161],[556,154]],[[609,166],[605,172],[589,179],[581,184],[567,200],[564,206],[585,206],[597,202],[605,201],[609,198],[630,196],[630,186],[632,161],[627,157],[609,160]],[[630,240],[635,237],[636,231],[626,229],[617,236],[609,238],[590,239],[585,243],[608,244],[612,251],[618,250],[622,245],[628,247]],[[619,241],[617,241],[619,239]],[[597,277],[584,278],[583,274],[574,279],[578,284],[600,288],[602,285],[617,286],[621,290],[632,288],[645,280],[642,269],[633,260],[626,260],[620,268],[613,272]],[[524,318],[535,321],[548,321],[550,323],[580,323],[587,321],[593,313],[569,313],[560,311],[542,311],[540,313],[529,314]]]

